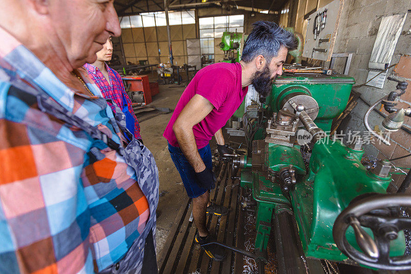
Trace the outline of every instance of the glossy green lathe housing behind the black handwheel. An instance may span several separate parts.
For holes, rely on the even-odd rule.
[[[325,139],[327,140],[327,139]],[[332,227],[339,213],[358,195],[386,193],[391,177],[377,177],[361,164],[363,151],[348,149],[339,141],[315,144],[310,159],[310,174],[297,184],[292,202],[300,239],[306,256],[334,261],[347,259],[332,238]],[[370,233],[369,229],[365,230]],[[358,247],[352,228],[348,242]],[[391,256],[403,255],[403,234],[391,242]]]

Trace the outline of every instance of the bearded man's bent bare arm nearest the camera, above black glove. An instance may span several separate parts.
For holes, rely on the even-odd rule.
[[[213,108],[214,106],[210,101],[201,95],[195,94],[183,110],[181,110],[173,125],[178,145],[195,172],[203,171],[206,169],[206,165],[204,165],[198,153],[193,127],[201,122]]]

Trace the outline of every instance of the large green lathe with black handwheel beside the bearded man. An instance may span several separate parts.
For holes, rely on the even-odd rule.
[[[403,232],[411,221],[399,214],[400,206],[411,206],[411,197],[386,193],[390,162],[367,169],[362,138],[345,146],[327,134],[354,83],[335,72],[278,77],[265,103],[244,112],[243,121],[255,125],[245,126],[255,130],[246,132],[252,135],[248,154],[220,155],[231,161],[232,178],[252,191],[243,206],[256,214],[254,258],[264,265],[274,229],[280,273],[317,273],[317,259],[411,268]],[[305,139],[312,140],[299,145]]]

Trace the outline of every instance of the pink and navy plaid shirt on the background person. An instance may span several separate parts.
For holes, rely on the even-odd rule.
[[[120,74],[117,71],[107,66],[106,63],[104,63],[104,65],[106,66],[106,69],[108,71],[108,78],[110,79],[110,83],[107,82],[106,77],[104,77],[103,73],[97,67],[87,63],[84,64],[84,67],[86,68],[90,79],[94,81],[94,83],[96,83],[96,85],[100,88],[104,98],[113,100],[113,102],[116,103],[117,106],[120,107],[120,109],[122,109],[122,106],[124,106],[122,95],[122,93],[124,93],[124,97],[128,105],[128,111],[134,117],[134,136],[136,139],[141,139],[140,125],[138,123],[136,114],[134,114],[132,101],[130,100],[130,97],[125,93],[123,80],[121,79]],[[116,107],[111,103],[108,103],[108,105],[111,107],[113,112],[116,113]]]

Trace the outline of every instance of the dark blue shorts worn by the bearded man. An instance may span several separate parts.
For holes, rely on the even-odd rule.
[[[169,152],[174,165],[180,173],[181,180],[183,181],[185,191],[190,198],[197,198],[198,196],[206,193],[207,189],[199,187],[193,167],[190,165],[179,147],[174,147],[169,144]],[[211,163],[211,148],[207,145],[198,150],[201,159],[207,168],[212,169]]]

